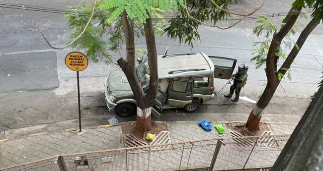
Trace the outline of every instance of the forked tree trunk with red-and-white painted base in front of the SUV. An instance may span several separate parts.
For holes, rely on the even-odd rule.
[[[126,15],[127,13],[123,12],[123,16]],[[155,32],[151,18],[147,19],[146,23],[144,24],[144,30],[149,57],[148,63],[150,71],[150,80],[149,88],[146,92],[144,92],[135,70],[136,57],[133,23],[127,17],[122,17],[122,23],[126,38],[127,60],[125,61],[123,58],[120,58],[118,60],[118,64],[124,71],[137,102],[136,129],[137,131],[144,133],[152,128],[151,112],[158,91],[158,64]]]

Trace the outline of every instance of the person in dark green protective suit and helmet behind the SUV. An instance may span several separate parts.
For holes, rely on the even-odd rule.
[[[234,99],[231,99],[233,102],[239,101],[239,95],[242,87],[244,87],[245,83],[247,82],[247,74],[248,66],[245,66],[244,63],[240,64],[238,66],[238,71],[236,74],[233,74],[231,76],[231,79],[233,79],[233,85],[230,87],[230,93],[227,95],[224,95],[224,97],[231,98],[234,91],[236,90],[236,97]]]

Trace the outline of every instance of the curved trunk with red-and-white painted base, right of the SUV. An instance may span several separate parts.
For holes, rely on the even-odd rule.
[[[267,77],[267,85],[264,92],[261,94],[260,99],[258,100],[257,104],[252,109],[251,113],[246,122],[246,127],[249,131],[259,130],[259,122],[263,113],[263,110],[268,106],[271,98],[273,97],[278,85],[279,80],[276,75],[277,66],[276,63],[276,52],[280,47],[280,44],[287,33],[292,29],[293,25],[295,24],[302,7],[296,8],[292,6],[288,15],[284,19],[283,22],[286,22],[278,33],[274,33],[267,58],[266,58],[266,77]]]

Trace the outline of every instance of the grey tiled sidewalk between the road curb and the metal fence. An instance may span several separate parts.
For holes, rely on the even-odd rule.
[[[222,122],[223,123],[223,122]],[[228,122],[226,122],[228,123]],[[290,134],[297,123],[268,122],[274,134]],[[216,130],[206,132],[197,122],[167,122],[172,142],[219,137]],[[228,129],[222,137],[229,137]],[[0,140],[0,169],[52,156],[124,147],[121,125],[87,127],[44,132],[15,139]]]

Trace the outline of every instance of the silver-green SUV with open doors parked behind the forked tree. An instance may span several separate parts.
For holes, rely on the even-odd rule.
[[[149,86],[148,57],[138,60],[137,76],[145,90]],[[214,78],[230,79],[237,60],[204,53],[158,56],[159,89],[152,114],[162,109],[183,108],[194,112],[214,95]],[[121,117],[136,114],[136,100],[124,73],[112,71],[105,81],[105,101],[109,110]]]

